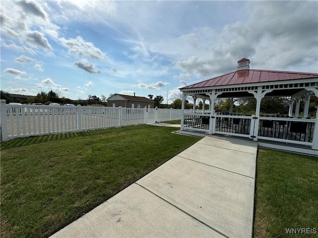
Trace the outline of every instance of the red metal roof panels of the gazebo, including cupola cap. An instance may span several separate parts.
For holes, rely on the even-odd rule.
[[[244,69],[244,70],[239,70],[239,71],[231,72],[228,74],[224,74],[224,75],[211,78],[208,80],[204,80],[198,83],[194,83],[194,84],[182,87],[181,89],[213,87],[213,86],[223,86],[223,85],[236,85],[236,84],[245,84],[245,83],[272,82],[272,81],[317,78],[317,77],[318,77],[318,73]]]

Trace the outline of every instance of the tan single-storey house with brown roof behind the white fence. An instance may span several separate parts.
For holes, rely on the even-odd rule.
[[[107,99],[108,107],[123,108],[154,108],[155,101],[146,97],[139,97],[115,93]]]

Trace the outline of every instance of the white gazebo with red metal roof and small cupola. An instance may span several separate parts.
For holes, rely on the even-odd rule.
[[[180,88],[182,116],[180,133],[193,135],[223,134],[257,141],[260,146],[318,155],[318,115],[309,117],[310,96],[318,97],[318,73],[258,70],[250,61],[238,61],[237,71]],[[193,110],[186,113],[185,100],[193,98]],[[288,115],[261,115],[262,99],[284,99]],[[196,109],[202,99],[202,110]],[[234,114],[234,102],[256,100],[254,114]],[[208,100],[209,110],[205,110]],[[216,113],[217,100],[230,100],[229,112]],[[304,110],[300,112],[301,100]],[[183,118],[183,119],[182,119]]]

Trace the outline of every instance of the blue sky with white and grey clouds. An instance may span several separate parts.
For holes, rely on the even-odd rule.
[[[318,72],[318,1],[1,0],[0,89],[180,98],[237,69]]]

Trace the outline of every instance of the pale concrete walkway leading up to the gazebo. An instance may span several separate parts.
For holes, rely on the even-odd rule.
[[[250,238],[256,152],[206,136],[52,238]]]

